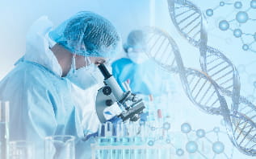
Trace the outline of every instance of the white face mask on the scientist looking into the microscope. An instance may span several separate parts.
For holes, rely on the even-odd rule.
[[[84,90],[98,84],[97,67],[87,57],[86,61],[86,67],[81,67],[77,70],[73,56],[70,71],[66,76],[73,84]]]

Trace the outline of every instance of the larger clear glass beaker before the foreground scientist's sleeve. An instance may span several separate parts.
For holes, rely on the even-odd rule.
[[[75,159],[74,140],[68,135],[45,137],[44,159]]]

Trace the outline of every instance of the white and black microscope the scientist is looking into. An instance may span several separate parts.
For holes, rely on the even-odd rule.
[[[98,67],[104,76],[104,86],[98,90],[95,104],[100,122],[104,123],[107,121],[104,116],[104,109],[110,107],[115,102],[122,109],[122,112],[115,114],[115,116],[120,117],[123,121],[128,119],[131,121],[139,120],[140,114],[145,108],[143,101],[131,91],[124,92],[103,63],[99,64]]]

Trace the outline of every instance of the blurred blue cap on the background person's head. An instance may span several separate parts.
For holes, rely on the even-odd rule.
[[[127,43],[124,44],[124,51],[128,51],[128,48],[133,49],[145,49],[147,34],[145,31],[134,30],[131,31],[127,38]]]

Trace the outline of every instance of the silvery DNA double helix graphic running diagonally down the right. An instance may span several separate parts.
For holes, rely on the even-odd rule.
[[[147,27],[148,55],[170,73],[177,73],[195,106],[221,115],[230,140],[242,153],[256,156],[256,107],[240,95],[237,68],[214,47],[209,47],[207,21],[199,7],[186,0],[168,0],[174,26],[191,45],[199,48],[201,71],[184,67],[174,39],[157,28]]]

